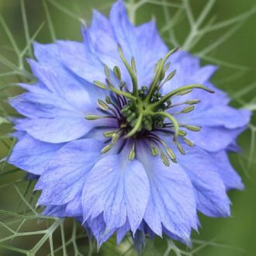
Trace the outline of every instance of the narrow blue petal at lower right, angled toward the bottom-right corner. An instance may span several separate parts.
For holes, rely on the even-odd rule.
[[[207,216],[230,216],[230,200],[213,159],[199,147],[184,148],[185,156],[177,154],[178,163],[192,182],[196,208]]]

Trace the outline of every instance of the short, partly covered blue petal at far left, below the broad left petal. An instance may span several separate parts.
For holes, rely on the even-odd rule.
[[[35,140],[26,134],[19,138],[13,148],[9,163],[34,175],[42,175],[47,163],[63,146],[64,144],[49,144]]]

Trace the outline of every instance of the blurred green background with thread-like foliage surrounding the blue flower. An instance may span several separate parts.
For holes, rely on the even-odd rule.
[[[112,1],[107,0],[0,0],[1,158],[8,154],[12,147],[12,140],[3,137],[11,129],[11,126],[5,123],[4,118],[8,115],[15,115],[7,106],[6,99],[20,92],[19,89],[12,87],[12,83],[29,81],[29,69],[24,60],[32,56],[32,50],[29,47],[32,41],[30,38],[36,33],[36,40],[41,43],[52,42],[54,38],[81,40],[81,22],[89,25],[92,9],[98,9],[107,14],[111,3]],[[217,87],[229,93],[233,99],[231,102],[233,106],[244,107],[252,111],[256,109],[256,50],[254,50],[256,7],[254,0],[131,0],[126,3],[130,17],[136,24],[156,19],[161,36],[170,47],[175,45],[191,51],[202,57],[202,64],[220,66],[219,71],[213,77],[213,82]],[[206,13],[206,11],[209,12]],[[229,193],[233,202],[232,217],[221,220],[200,215],[202,228],[199,234],[192,236],[195,244],[193,254],[189,254],[191,250],[184,248],[181,244],[176,244],[177,247],[185,250],[184,255],[256,255],[255,133],[256,122],[253,116],[249,129],[239,138],[242,148],[240,154],[230,155],[234,167],[243,177],[246,188],[243,192]],[[78,250],[74,249],[76,246],[74,240],[81,254],[97,254],[97,251],[89,250],[89,248],[92,249],[94,243],[90,245],[79,227],[75,230],[76,226],[72,220],[56,226],[55,232],[52,228],[53,223],[59,220],[40,220],[35,212],[35,218],[22,222],[23,219],[19,216],[5,213],[3,210],[18,211],[22,216],[26,216],[31,211],[33,213],[36,194],[32,192],[33,184],[22,182],[24,177],[22,171],[17,171],[5,164],[0,167],[0,242],[4,242],[1,247],[19,247],[30,250],[44,235],[35,234],[32,237],[20,235],[18,237],[15,232],[13,234],[11,230],[8,230],[8,227],[12,227],[13,230],[19,228],[19,232],[28,230],[34,232],[47,228],[53,232],[54,250],[60,247],[54,255],[62,255],[66,251],[68,255],[79,255]],[[29,206],[32,206],[32,209],[29,209]],[[5,227],[6,223],[10,226]],[[69,240],[72,234],[73,240]],[[16,238],[5,240],[5,237],[10,235]],[[50,254],[48,238],[46,237],[45,244],[41,244],[42,247],[36,255]],[[68,242],[66,251],[62,247],[63,241]],[[148,240],[144,255],[175,255],[175,251],[169,252],[171,248],[178,250],[165,239]],[[135,255],[130,247],[129,237],[118,248],[115,246],[115,240],[112,239],[99,251],[100,255],[124,255],[125,253]],[[22,255],[22,251],[15,252],[0,248],[0,255]],[[33,255],[33,252],[30,255]]]

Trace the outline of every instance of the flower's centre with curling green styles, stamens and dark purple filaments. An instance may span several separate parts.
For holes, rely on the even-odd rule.
[[[105,66],[106,82],[94,81],[94,85],[111,92],[110,97],[107,96],[105,102],[100,99],[98,100],[99,107],[102,111],[106,112],[106,115],[85,116],[88,120],[113,118],[119,124],[119,129],[103,134],[105,137],[111,138],[111,143],[103,147],[102,154],[109,151],[120,138],[132,138],[133,146],[128,157],[130,160],[133,160],[136,157],[136,140],[146,138],[150,141],[151,153],[154,155],[160,154],[164,164],[169,165],[168,158],[173,162],[177,162],[176,157],[173,150],[168,147],[168,144],[158,136],[159,133],[167,133],[173,139],[181,154],[185,154],[185,151],[182,149],[179,141],[184,141],[190,147],[193,146],[192,142],[185,137],[187,134],[185,130],[198,132],[201,127],[178,123],[175,115],[192,112],[195,109],[195,104],[198,104],[200,101],[199,99],[191,99],[185,102],[179,102],[178,104],[172,104],[171,100],[175,96],[189,94],[194,88],[211,93],[213,91],[203,85],[194,84],[182,86],[169,92],[167,95],[161,95],[161,88],[175,75],[175,71],[171,71],[170,74],[166,75],[170,67],[170,62],[166,62],[177,49],[171,50],[163,59],[157,61],[154,67],[154,78],[150,82],[149,87],[143,86],[139,88],[135,59],[132,57],[129,64],[123,55],[121,47],[118,46],[119,55],[133,82],[133,92],[130,92],[126,86],[126,82],[123,81],[119,67],[115,66],[110,71],[109,67]],[[113,81],[116,80],[119,81],[118,86],[113,85]],[[175,106],[183,105],[184,108],[180,112],[170,114],[168,111]],[[166,119],[168,119],[167,123],[165,122]],[[180,128],[185,130],[181,130]]]

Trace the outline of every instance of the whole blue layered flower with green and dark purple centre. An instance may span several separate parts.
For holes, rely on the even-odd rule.
[[[146,234],[189,243],[197,212],[230,216],[227,191],[243,189],[227,152],[250,112],[228,106],[215,66],[169,51],[154,22],[131,25],[121,1],[82,33],[34,44],[37,82],[10,99],[23,117],[9,162],[40,176],[44,214],[77,218],[99,245],[129,231],[139,247]]]

